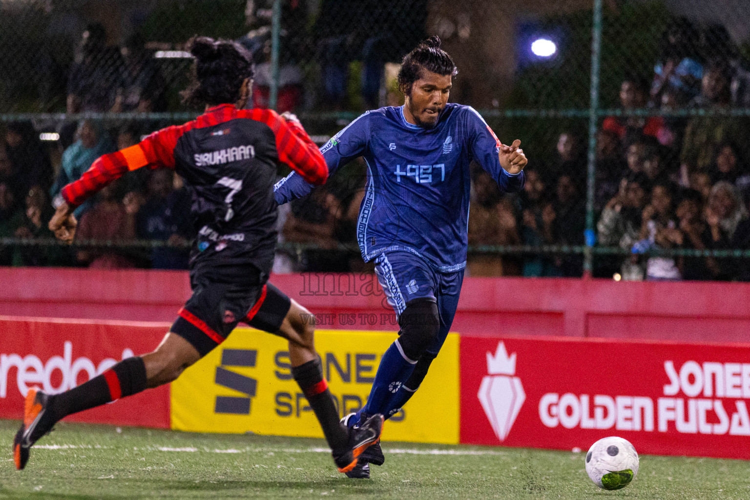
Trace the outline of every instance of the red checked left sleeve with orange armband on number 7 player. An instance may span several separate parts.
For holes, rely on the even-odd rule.
[[[80,179],[62,188],[62,197],[69,205],[77,207],[128,170],[136,170],[147,165],[152,169],[160,166],[175,168],[174,150],[177,139],[190,128],[190,124],[166,127],[130,148],[104,154],[92,163],[91,168],[84,172]]]

